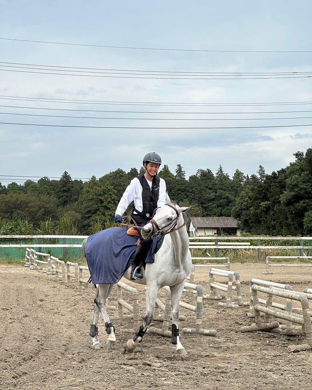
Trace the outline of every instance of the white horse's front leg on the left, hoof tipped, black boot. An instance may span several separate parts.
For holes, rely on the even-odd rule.
[[[153,312],[154,312],[154,303],[156,301],[157,293],[160,286],[152,285],[147,286],[146,288],[146,313],[143,321],[143,325],[138,328],[137,332],[133,336],[133,339],[129,339],[126,344],[126,351],[132,352],[138,345],[139,342],[142,341],[145,332],[147,331],[147,327],[153,320]]]

